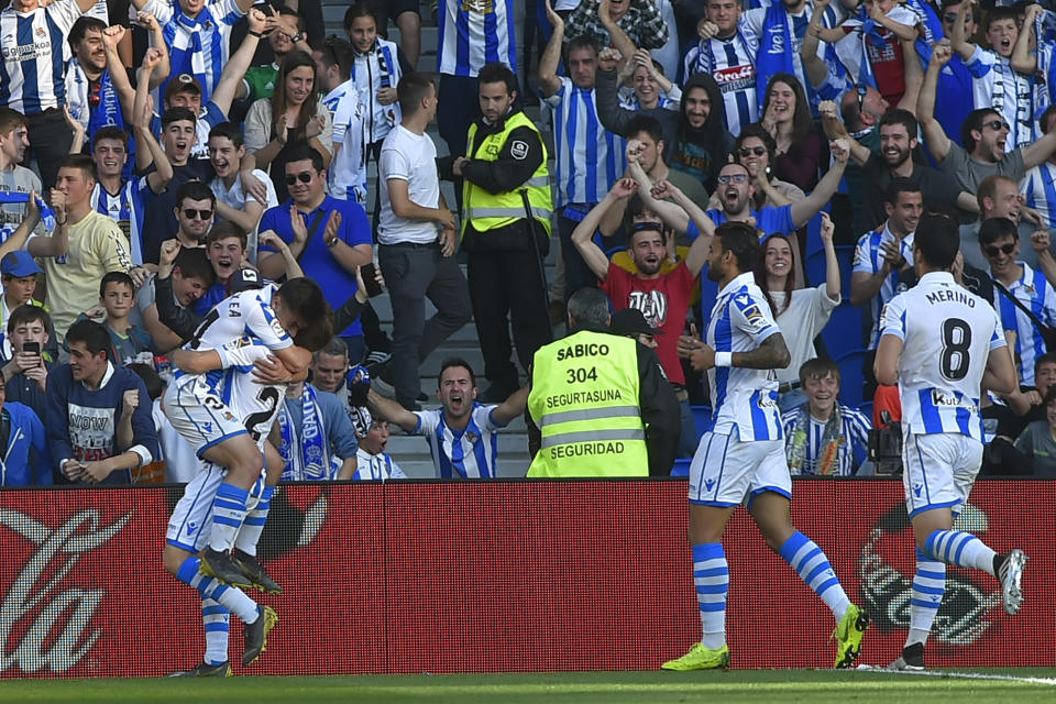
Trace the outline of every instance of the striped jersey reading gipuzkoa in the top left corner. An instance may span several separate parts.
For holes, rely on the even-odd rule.
[[[22,114],[66,105],[66,35],[81,14],[75,0],[0,12],[0,105]]]

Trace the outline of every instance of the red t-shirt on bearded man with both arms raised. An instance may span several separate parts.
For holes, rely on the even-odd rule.
[[[614,310],[637,308],[650,326],[663,330],[663,334],[656,338],[657,356],[668,381],[683,386],[685,375],[679,361],[679,336],[685,330],[685,316],[690,311],[695,284],[696,278],[690,274],[685,262],[657,278],[639,278],[609,262],[608,275],[601,284],[613,301]]]

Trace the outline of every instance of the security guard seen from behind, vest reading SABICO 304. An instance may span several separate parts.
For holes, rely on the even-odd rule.
[[[607,331],[608,298],[569,299],[563,340],[536,352],[528,394],[528,476],[670,474],[680,409],[656,352]],[[656,331],[651,331],[656,332]]]

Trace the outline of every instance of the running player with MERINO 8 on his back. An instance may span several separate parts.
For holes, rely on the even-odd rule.
[[[928,216],[921,221],[913,242],[920,280],[888,302],[877,349],[877,381],[898,384],[902,399],[902,483],[916,540],[910,635],[891,666],[900,670],[924,668],[946,564],[997,576],[1009,614],[1023,602],[1023,552],[1000,556],[971,534],[953,530],[982,462],[980,394],[1007,394],[1016,386],[997,314],[949,273],[959,248],[953,220]]]

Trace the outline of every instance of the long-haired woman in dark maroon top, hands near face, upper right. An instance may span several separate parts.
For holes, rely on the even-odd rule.
[[[773,175],[811,190],[817,184],[826,143],[814,129],[811,103],[792,74],[774,74],[762,103],[763,129],[773,138]]]

